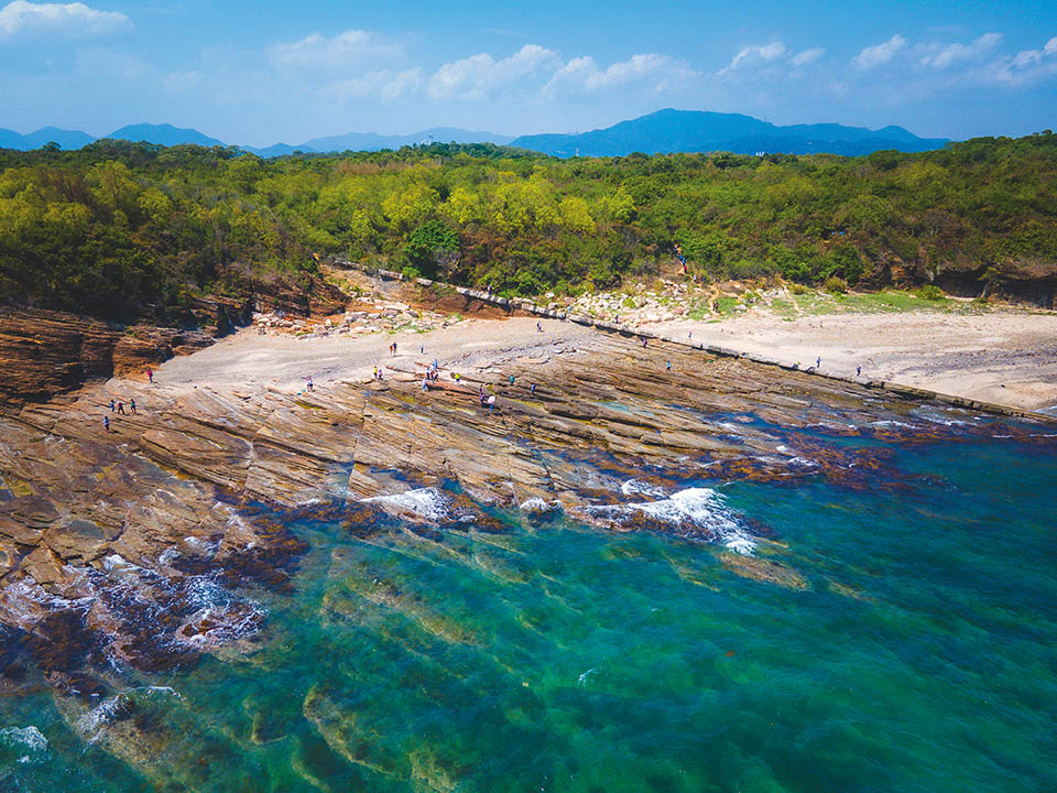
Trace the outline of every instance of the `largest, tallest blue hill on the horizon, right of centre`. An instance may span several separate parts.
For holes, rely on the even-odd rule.
[[[667,109],[581,134],[522,135],[511,145],[562,157],[577,153],[581,156],[624,156],[632,152],[708,151],[861,155],[882,149],[928,151],[940,149],[948,142],[946,139],[918,138],[902,127],[880,130],[837,123],[780,127],[740,113]]]

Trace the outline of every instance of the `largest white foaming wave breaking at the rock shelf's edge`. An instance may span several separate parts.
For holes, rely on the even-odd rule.
[[[654,522],[668,532],[690,539],[717,542],[731,551],[751,556],[756,548],[738,515],[711,488],[687,488],[656,501],[588,507],[592,518],[628,525],[642,520]]]

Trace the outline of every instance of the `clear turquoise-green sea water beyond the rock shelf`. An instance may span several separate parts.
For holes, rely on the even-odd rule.
[[[0,790],[1057,790],[1057,455],[896,463],[934,478],[705,482],[806,590],[562,517],[439,542],[305,522],[294,591],[251,593],[258,652],[120,672],[171,691],[91,730],[46,687],[0,697],[0,729],[47,741],[0,732]]]

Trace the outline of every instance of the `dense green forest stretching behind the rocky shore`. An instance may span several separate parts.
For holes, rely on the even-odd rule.
[[[803,283],[1057,262],[1057,137],[864,157],[0,150],[0,302],[116,319],[309,289],[314,254],[532,295],[654,274],[676,250],[708,279]]]

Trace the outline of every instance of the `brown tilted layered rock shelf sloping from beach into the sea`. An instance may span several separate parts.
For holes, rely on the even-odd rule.
[[[728,571],[799,590],[813,583],[782,539],[722,509],[708,482],[825,477],[898,489],[922,475],[898,470],[892,443],[1054,443],[1026,424],[615,334],[549,358],[465,367],[458,379],[445,371],[425,391],[423,365],[302,393],[111,380],[0,415],[0,693],[40,684],[31,655],[83,739],[151,779],[195,786],[183,775],[195,763],[163,760],[192,751],[193,726],[189,737],[151,726],[166,693],[130,693],[113,670],[259,648],[266,615],[247,588],[287,586],[306,551],[292,517],[341,523],[350,548],[394,544],[519,582],[534,572],[505,553],[516,535],[502,508],[530,522],[565,512],[598,531],[707,543]],[[482,389],[494,408],[481,404]],[[368,607],[401,615],[424,641],[480,641],[360,553],[335,552],[331,566],[339,574],[322,606],[331,619]],[[336,715],[342,696],[314,688],[304,702],[338,754],[401,779],[460,775],[427,756],[361,753]],[[95,726],[100,713],[106,730]],[[183,718],[183,705],[166,713]],[[265,715],[254,718],[254,741],[273,731]]]

